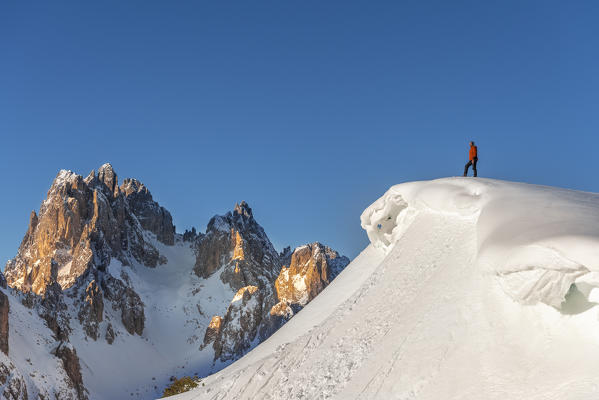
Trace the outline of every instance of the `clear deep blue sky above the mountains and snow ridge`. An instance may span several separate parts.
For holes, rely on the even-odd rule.
[[[480,175],[599,192],[599,2],[0,5],[0,259],[58,170],[111,162],[204,230],[354,257],[390,185]]]

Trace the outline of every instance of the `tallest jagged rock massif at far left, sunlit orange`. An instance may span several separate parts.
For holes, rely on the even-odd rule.
[[[119,187],[110,164],[85,179],[62,170],[39,216],[31,213],[17,256],[6,266],[8,285],[44,293],[52,261],[57,263],[57,282],[63,289],[90,272],[105,269],[112,257],[124,265],[135,260],[154,267],[164,259],[147,239],[144,226],[163,243],[173,243],[170,214],[140,182],[126,180]]]

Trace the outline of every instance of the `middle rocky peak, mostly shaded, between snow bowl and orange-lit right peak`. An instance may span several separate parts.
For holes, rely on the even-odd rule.
[[[216,336],[215,359],[238,358],[274,332],[268,310],[276,303],[273,283],[280,270],[279,253],[245,201],[210,220],[198,239],[194,271],[203,278],[220,271],[220,279],[237,291],[218,333],[209,334]]]

